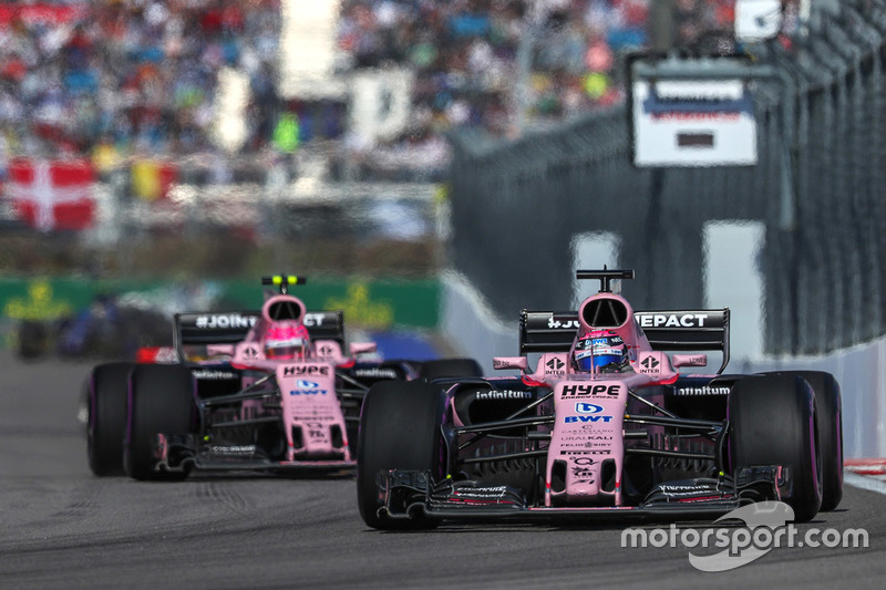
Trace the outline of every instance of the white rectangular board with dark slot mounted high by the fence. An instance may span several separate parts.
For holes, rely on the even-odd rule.
[[[756,164],[753,101],[741,80],[631,81],[633,164]]]

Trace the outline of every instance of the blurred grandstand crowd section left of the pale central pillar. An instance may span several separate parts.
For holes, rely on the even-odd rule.
[[[102,166],[119,155],[208,149],[216,79],[226,65],[250,76],[250,139],[260,142],[278,28],[277,0],[4,3],[4,151],[93,154]]]

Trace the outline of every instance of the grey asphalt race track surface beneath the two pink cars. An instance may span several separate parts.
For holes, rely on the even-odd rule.
[[[875,491],[847,487],[836,511],[799,525],[864,528],[866,549],[783,547],[721,573],[696,570],[679,544],[622,548],[625,525],[379,532],[349,477],[96,478],[76,421],[89,365],[0,351],[0,588],[885,587]]]

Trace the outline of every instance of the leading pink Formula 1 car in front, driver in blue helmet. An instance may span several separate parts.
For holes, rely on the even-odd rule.
[[[709,518],[842,497],[839,386],[828,373],[724,374],[729,310],[635,312],[578,271],[578,312],[523,311],[519,376],[385,382],[363,403],[358,500],[380,529],[445,519]],[[677,351],[690,354],[677,354]],[[683,374],[707,366],[717,374]]]

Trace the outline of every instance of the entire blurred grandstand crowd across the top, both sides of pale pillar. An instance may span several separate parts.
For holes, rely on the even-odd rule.
[[[357,157],[433,144],[427,166],[442,169],[441,135],[453,127],[509,137],[621,101],[619,58],[649,45],[653,0],[341,0],[337,75],[390,65],[415,74],[411,123],[388,145],[349,136],[347,104],[279,96],[282,3],[0,4],[0,157],[89,155],[107,169],[218,152],[216,82],[234,68],[251,90],[239,156],[279,149],[275,131],[295,112],[305,147],[334,139]],[[732,51],[733,10],[734,0],[674,0],[677,44]]]

